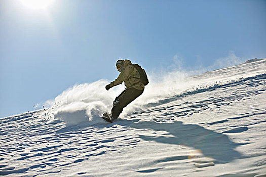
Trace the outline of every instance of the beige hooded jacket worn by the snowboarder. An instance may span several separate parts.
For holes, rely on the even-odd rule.
[[[110,87],[116,86],[125,82],[127,89],[135,88],[137,90],[144,90],[144,84],[140,82],[140,75],[138,70],[129,60],[124,61],[124,69],[119,74],[118,78],[110,83]]]

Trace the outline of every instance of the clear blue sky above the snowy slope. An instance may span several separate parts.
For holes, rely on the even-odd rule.
[[[147,71],[208,67],[233,53],[266,57],[266,1],[52,0],[32,9],[0,0],[0,117],[33,110],[75,83]]]

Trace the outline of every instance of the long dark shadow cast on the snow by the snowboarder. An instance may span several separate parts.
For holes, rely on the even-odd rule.
[[[232,142],[226,135],[208,130],[195,124],[183,124],[180,121],[173,123],[157,123],[152,121],[119,120],[116,124],[130,126],[137,129],[154,129],[168,131],[173,137],[145,136],[139,137],[145,141],[182,145],[200,150],[204,156],[212,157],[216,163],[227,163],[241,157],[235,150],[240,144]]]

